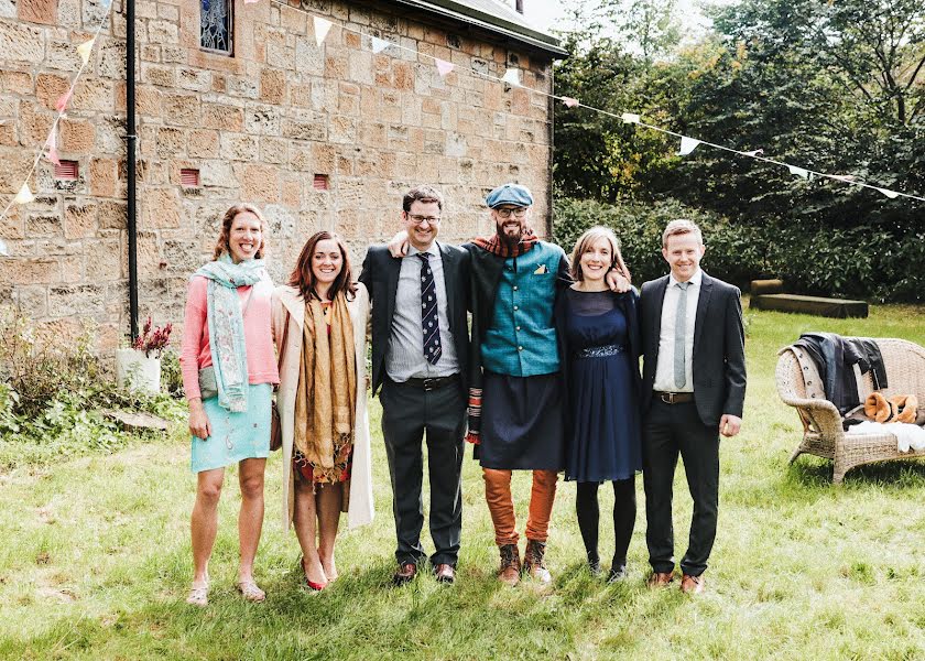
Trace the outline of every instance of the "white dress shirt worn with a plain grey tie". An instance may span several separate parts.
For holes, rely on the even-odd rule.
[[[655,382],[653,390],[662,392],[694,392],[694,324],[697,321],[697,302],[700,300],[700,283],[704,272],[697,272],[688,280],[687,288],[687,322],[684,338],[684,386],[678,388],[674,381],[674,336],[675,315],[677,314],[677,297],[682,290],[677,280],[668,274],[668,286],[665,290],[665,301],[662,303],[662,332],[659,334],[659,360],[655,364]]]

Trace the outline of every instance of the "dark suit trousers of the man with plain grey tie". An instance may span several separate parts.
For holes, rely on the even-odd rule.
[[[677,456],[684,460],[694,499],[690,539],[681,560],[685,574],[699,576],[716,539],[719,507],[719,430],[700,422],[694,402],[666,404],[653,399],[643,427],[643,485],[649,563],[653,572],[673,572],[672,490]]]

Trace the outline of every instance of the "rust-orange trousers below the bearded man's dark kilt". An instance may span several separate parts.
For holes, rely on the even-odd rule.
[[[514,516],[514,501],[511,498],[511,472],[482,468],[485,477],[485,499],[494,523],[494,543],[499,546],[518,543],[518,522]],[[530,494],[530,510],[526,518],[526,539],[546,542],[549,531],[549,517],[556,499],[555,470],[534,470],[533,489]]]

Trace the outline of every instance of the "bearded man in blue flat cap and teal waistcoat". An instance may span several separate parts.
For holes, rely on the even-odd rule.
[[[557,473],[565,465],[553,310],[572,278],[563,249],[533,234],[529,188],[504,184],[486,204],[496,234],[464,246],[471,257],[472,305],[467,438],[478,443],[501,553],[499,578],[509,585],[516,585],[521,573],[511,472],[533,472],[523,571],[548,584],[546,538]]]

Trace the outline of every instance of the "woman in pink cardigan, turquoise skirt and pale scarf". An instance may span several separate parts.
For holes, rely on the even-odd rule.
[[[238,464],[238,590],[265,595],[253,579],[263,525],[263,470],[270,454],[270,410],[280,377],[270,328],[273,282],[263,262],[266,224],[251,205],[225,213],[215,259],[189,280],[181,365],[189,402],[193,473],[193,586],[187,603],[208,604],[208,563],[218,529],[225,467]]]

